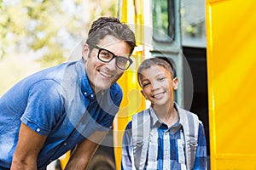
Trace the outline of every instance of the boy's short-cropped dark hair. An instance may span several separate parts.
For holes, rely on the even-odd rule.
[[[164,67],[167,71],[171,73],[172,78],[175,77],[174,69],[172,62],[167,58],[154,57],[150,59],[143,60],[143,63],[139,66],[137,70],[137,81],[139,82],[140,77],[142,76],[142,71],[150,68],[152,65],[160,65]]]

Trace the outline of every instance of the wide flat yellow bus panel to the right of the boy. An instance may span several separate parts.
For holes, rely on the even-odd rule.
[[[212,169],[256,169],[256,1],[206,4]]]

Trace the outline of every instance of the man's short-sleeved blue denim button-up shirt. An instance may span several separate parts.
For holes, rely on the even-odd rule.
[[[94,94],[83,59],[26,77],[0,98],[0,167],[11,165],[21,122],[48,136],[38,155],[38,169],[45,169],[91,133],[112,127],[122,96],[116,82]]]

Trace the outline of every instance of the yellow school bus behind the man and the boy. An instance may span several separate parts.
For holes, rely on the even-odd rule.
[[[103,141],[89,169],[120,169],[125,126],[147,105],[137,67],[156,56],[172,60],[180,80],[177,103],[204,123],[207,169],[256,169],[255,7],[254,0],[120,0],[119,19],[135,31],[137,48],[134,64],[119,79],[124,99],[108,144]]]

